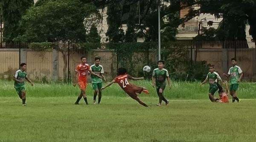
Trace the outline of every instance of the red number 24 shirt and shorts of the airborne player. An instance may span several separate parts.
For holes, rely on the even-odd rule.
[[[135,95],[136,93],[141,93],[143,91],[142,87],[135,86],[128,82],[128,79],[131,78],[130,75],[119,75],[114,81],[117,83],[128,95]]]

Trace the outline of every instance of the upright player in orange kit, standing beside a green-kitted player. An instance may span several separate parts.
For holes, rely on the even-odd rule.
[[[78,81],[73,80],[73,86],[76,86],[75,82],[78,82],[79,84],[79,88],[81,90],[80,95],[78,96],[77,100],[76,100],[76,105],[79,104],[79,101],[81,100],[82,96],[84,97],[84,102],[88,105],[87,102],[87,96],[85,94],[85,89],[87,86],[87,74],[88,72],[90,72],[93,75],[96,75],[94,72],[90,71],[90,66],[89,64],[86,64],[86,58],[85,57],[81,57],[81,64],[79,64],[76,67],[76,72],[75,72],[75,77],[74,79],[76,79],[76,77],[78,77]],[[99,75],[96,75],[99,76]],[[101,78],[101,76],[99,76],[99,78]]]

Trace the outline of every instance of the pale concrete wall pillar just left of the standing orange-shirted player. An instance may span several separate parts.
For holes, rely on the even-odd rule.
[[[58,50],[52,50],[52,81],[58,81]]]

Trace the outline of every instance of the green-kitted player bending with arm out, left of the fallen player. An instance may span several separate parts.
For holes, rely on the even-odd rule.
[[[220,75],[218,75],[218,73],[214,71],[214,67],[212,65],[209,67],[209,73],[207,74],[204,82],[202,82],[201,85],[206,84],[208,80],[209,80],[209,94],[208,94],[209,99],[212,102],[216,102],[216,99],[213,97],[213,95],[218,90],[217,82],[218,81],[222,82],[222,79]]]

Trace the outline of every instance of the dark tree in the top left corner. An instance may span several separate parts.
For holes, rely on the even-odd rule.
[[[1,9],[3,14],[4,32],[3,41],[12,42],[22,30],[19,26],[19,20],[25,14],[26,9],[34,4],[33,0],[1,0]]]

